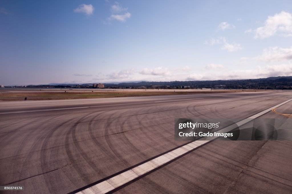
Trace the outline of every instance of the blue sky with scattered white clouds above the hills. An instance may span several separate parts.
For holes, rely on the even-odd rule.
[[[0,84],[292,75],[292,1],[0,1]]]

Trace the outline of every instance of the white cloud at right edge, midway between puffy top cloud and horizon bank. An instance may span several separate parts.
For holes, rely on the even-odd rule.
[[[263,53],[255,57],[260,61],[280,61],[280,60],[291,60],[292,59],[292,46],[290,48],[281,47],[269,47],[264,49]]]

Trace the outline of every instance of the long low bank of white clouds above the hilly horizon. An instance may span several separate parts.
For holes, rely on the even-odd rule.
[[[249,60],[251,58],[242,58]],[[240,66],[246,67],[246,66]],[[135,69],[120,70],[109,73],[108,75],[96,75],[91,80],[82,80],[82,82],[127,82],[127,81],[174,81],[174,80],[230,80],[230,79],[255,79],[271,76],[291,76],[292,64],[277,64],[251,67],[250,69],[230,70],[227,66],[221,64],[207,64],[204,69],[192,69],[188,66],[179,69],[185,71],[175,71],[163,67],[144,68],[141,71]],[[84,74],[80,74],[83,76]],[[77,75],[79,76],[79,75]],[[83,78],[83,77],[82,77]],[[84,77],[87,78],[87,77]],[[79,80],[81,83],[81,80]]]

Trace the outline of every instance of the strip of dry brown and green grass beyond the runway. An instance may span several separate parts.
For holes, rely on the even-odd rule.
[[[82,98],[113,98],[113,97],[130,97],[130,96],[159,96],[159,95],[180,95],[180,94],[212,94],[212,93],[234,93],[243,92],[241,90],[208,90],[208,91],[60,91],[60,92],[2,92],[0,101],[13,100],[59,100],[59,99],[82,99]],[[246,91],[248,92],[248,91]],[[254,91],[253,91],[254,92]]]

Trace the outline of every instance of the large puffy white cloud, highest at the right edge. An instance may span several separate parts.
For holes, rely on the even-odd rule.
[[[290,36],[292,33],[292,15],[282,11],[274,16],[268,16],[265,25],[253,30],[254,38],[268,38],[276,34],[281,36]],[[291,35],[292,36],[292,35]]]

